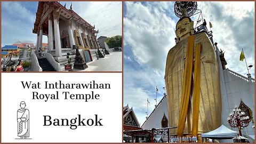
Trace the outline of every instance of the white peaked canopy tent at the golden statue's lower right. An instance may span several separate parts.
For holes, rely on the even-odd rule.
[[[228,127],[221,125],[218,129],[211,132],[202,133],[202,138],[210,139],[232,139],[237,136],[236,131],[228,129]]]

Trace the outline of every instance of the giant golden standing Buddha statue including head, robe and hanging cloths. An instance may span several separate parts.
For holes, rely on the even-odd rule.
[[[194,35],[193,24],[194,22],[189,17],[180,18],[175,30],[178,43],[169,51],[166,60],[165,84],[169,127],[178,126],[178,130],[170,130],[171,135],[193,135],[192,127],[195,123],[193,119],[198,121],[196,134],[215,130],[221,124],[221,94],[217,57],[206,33]],[[201,51],[196,52],[196,45],[198,44]],[[189,45],[191,45],[191,50],[189,50],[191,58],[187,56]],[[195,62],[196,53],[198,53],[197,64]],[[188,58],[191,61],[190,74],[186,71],[186,67],[189,65],[187,64]],[[199,72],[196,72],[196,69],[197,71],[199,69]],[[195,75],[198,75],[199,78],[195,78]],[[199,109],[197,115],[195,115],[194,110],[196,108],[193,104],[196,85],[199,87],[197,89],[198,103],[196,105]],[[183,92],[185,89],[187,91]],[[188,93],[187,98],[183,96],[184,93],[185,95]],[[187,106],[185,106],[184,101],[187,101],[185,102]],[[195,116],[193,117],[193,115]],[[179,132],[179,129],[183,130]]]

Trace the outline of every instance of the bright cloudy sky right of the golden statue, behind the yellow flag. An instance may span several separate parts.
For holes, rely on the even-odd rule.
[[[213,39],[225,51],[227,68],[246,76],[244,62],[239,61],[242,48],[254,66],[254,2],[198,2],[205,19],[213,25]],[[250,73],[254,77],[254,67]]]

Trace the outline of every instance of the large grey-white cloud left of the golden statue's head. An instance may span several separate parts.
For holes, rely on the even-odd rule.
[[[174,44],[174,21],[163,9],[141,3],[125,2],[124,41],[132,46],[136,60],[156,69],[163,69],[167,51]],[[159,2],[160,3],[160,2]],[[165,5],[165,3],[160,3]],[[162,57],[158,57],[163,55]]]

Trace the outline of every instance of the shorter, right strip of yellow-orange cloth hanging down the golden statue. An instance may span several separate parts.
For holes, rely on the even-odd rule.
[[[195,52],[195,77],[193,91],[193,111],[192,111],[192,136],[198,133],[199,103],[200,103],[200,72],[201,72],[201,44],[196,44]]]

